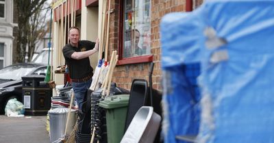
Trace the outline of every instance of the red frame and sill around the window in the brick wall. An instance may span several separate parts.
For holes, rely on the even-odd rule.
[[[134,0],[136,1],[136,0]],[[153,61],[153,54],[145,54],[138,57],[128,57],[123,58],[123,29],[124,29],[124,1],[120,0],[120,15],[119,15],[119,61],[117,65],[127,65],[127,64],[134,64],[134,63],[148,63]],[[151,46],[150,46],[151,48]]]

